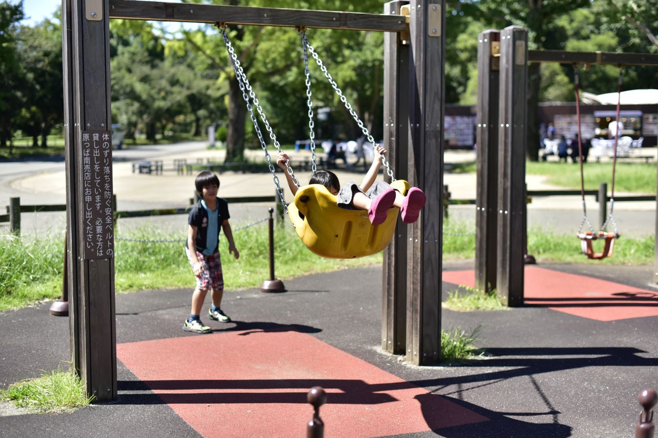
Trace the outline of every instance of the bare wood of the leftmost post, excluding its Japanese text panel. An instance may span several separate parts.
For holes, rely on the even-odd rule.
[[[74,366],[88,394],[95,394],[96,401],[103,402],[116,398],[114,264],[81,257],[84,254],[84,215],[78,206],[83,187],[81,132],[107,130],[111,122],[109,5],[107,1],[103,3],[106,18],[102,21],[86,20],[84,5],[82,0],[65,1],[63,18],[66,22],[63,26],[66,203],[69,260],[72,261],[69,284],[70,291],[74,291],[69,297],[76,299],[69,314]],[[70,30],[70,38],[67,30]]]

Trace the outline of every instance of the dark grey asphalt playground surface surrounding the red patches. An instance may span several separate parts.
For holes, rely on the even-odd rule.
[[[652,290],[648,284],[652,267],[541,266]],[[472,261],[445,263],[444,269],[472,269]],[[644,387],[658,388],[658,317],[600,322],[542,307],[471,313],[444,310],[443,328],[469,330],[482,324],[477,345],[486,353],[467,364],[417,367],[380,349],[381,267],[284,282],[288,292],[283,294],[227,290],[222,307],[236,322],[204,321],[217,331],[284,329],[311,334],[491,420],[398,436],[632,437],[640,411],[638,393]],[[444,296],[453,289],[455,285],[444,283]],[[181,330],[190,297],[191,290],[118,295],[117,341],[200,336]],[[0,313],[1,388],[38,376],[41,370],[68,368],[68,321],[50,316],[49,304]],[[203,366],[194,358],[190,361]],[[6,405],[0,406],[0,435],[199,436],[120,361],[117,375],[119,395],[114,403],[49,415],[8,412]],[[304,424],[309,418],[299,418],[299,422]],[[325,427],[329,431],[331,424]],[[248,425],[243,436],[250,436]]]

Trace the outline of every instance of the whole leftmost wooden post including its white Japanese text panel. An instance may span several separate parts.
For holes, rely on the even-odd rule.
[[[62,11],[72,367],[95,401],[116,398],[109,1]]]

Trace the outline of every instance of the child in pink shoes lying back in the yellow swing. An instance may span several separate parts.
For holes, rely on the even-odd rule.
[[[379,168],[382,165],[382,155],[386,155],[386,149],[377,144],[374,160],[372,160],[368,173],[363,177],[361,185],[357,186],[356,183],[350,181],[340,186],[336,174],[328,170],[316,171],[315,175],[311,175],[309,184],[325,186],[331,194],[338,198],[336,204],[340,208],[368,211],[368,217],[372,225],[384,223],[388,216],[388,210],[393,206],[400,209],[404,223],[414,223],[420,215],[420,210],[425,205],[425,194],[420,188],[412,187],[407,192],[407,196],[404,196],[388,183],[380,180],[376,181]],[[288,154],[280,153],[276,158],[276,164],[283,169],[288,186],[293,196],[295,196],[297,186],[295,186],[292,177],[286,171],[286,162],[290,162]]]

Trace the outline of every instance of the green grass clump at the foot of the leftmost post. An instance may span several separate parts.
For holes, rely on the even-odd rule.
[[[0,390],[0,400],[9,400],[21,408],[41,413],[68,412],[87,406],[93,401],[86,396],[82,381],[74,373],[62,371],[43,372],[36,379],[22,380]]]

